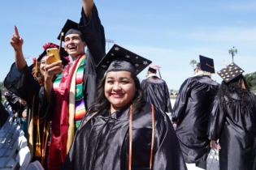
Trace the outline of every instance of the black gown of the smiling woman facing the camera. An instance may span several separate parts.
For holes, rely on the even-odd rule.
[[[171,121],[158,108],[154,109],[153,169],[186,169]],[[84,122],[76,132],[63,169],[128,169],[129,108],[112,114],[106,110]],[[145,104],[140,113],[133,113],[132,169],[150,169],[151,123],[150,104]]]

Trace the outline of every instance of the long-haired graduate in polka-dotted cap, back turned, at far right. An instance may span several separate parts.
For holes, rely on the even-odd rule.
[[[209,138],[219,150],[219,170],[256,169],[256,97],[243,72],[233,62],[218,72],[223,82],[210,113]]]

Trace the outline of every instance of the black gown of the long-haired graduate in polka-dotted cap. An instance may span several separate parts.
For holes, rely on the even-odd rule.
[[[219,97],[210,116],[210,139],[219,139],[220,170],[254,170],[256,152],[256,98],[253,105],[241,107],[236,93],[232,94],[232,103],[225,97],[225,108]]]

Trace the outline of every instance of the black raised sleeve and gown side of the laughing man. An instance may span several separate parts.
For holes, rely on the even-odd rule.
[[[96,69],[98,63],[105,56],[105,33],[102,23],[98,17],[98,11],[93,5],[92,14],[87,19],[85,12],[81,11],[80,30],[85,35],[83,38],[88,47],[89,53],[86,54],[85,71],[84,71],[84,97],[85,108],[88,109],[94,102],[96,87],[99,79],[103,77],[103,71]]]

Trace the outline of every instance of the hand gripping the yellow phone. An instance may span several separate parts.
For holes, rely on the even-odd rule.
[[[47,63],[47,58],[46,58],[46,63]],[[51,64],[46,64],[45,70],[44,70],[44,78],[46,81],[54,78],[55,74],[60,74],[63,71],[63,64],[62,61],[58,62],[53,62]]]

